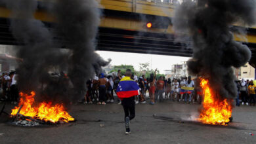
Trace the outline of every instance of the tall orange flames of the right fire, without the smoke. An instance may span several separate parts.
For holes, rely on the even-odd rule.
[[[204,124],[225,126],[232,115],[231,102],[228,102],[227,99],[218,99],[217,94],[211,90],[208,82],[208,80],[201,79],[200,86],[203,90],[204,100],[199,120]]]

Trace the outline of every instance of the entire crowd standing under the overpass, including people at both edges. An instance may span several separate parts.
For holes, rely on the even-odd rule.
[[[101,73],[93,79],[87,81],[87,92],[84,97],[84,104],[102,104],[114,103],[121,100],[114,97],[116,94],[119,81],[125,77],[121,75],[121,71],[104,75]],[[131,79],[137,82],[139,86],[139,95],[135,96],[135,103],[149,103],[154,105],[157,101],[172,100],[184,103],[202,103],[202,90],[200,88],[200,80],[192,79],[192,77],[182,77],[181,79],[156,77],[156,71],[146,78],[145,75],[138,77],[136,73],[131,75]],[[0,77],[0,101],[11,101],[12,104],[18,103],[18,88],[16,86],[16,73],[2,73]],[[238,96],[236,97],[236,105],[255,105],[256,101],[256,82],[236,81],[238,88]],[[116,100],[115,100],[116,98]],[[148,101],[146,101],[149,99]]]

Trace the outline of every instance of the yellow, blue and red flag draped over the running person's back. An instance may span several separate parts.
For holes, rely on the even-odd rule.
[[[119,99],[131,98],[132,96],[139,95],[139,89],[137,82],[133,81],[130,77],[123,77],[117,86],[116,94]]]

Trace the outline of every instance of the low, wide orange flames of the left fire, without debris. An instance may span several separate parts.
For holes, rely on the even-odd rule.
[[[42,102],[35,106],[35,92],[31,92],[30,95],[20,92],[20,102],[18,107],[12,109],[11,115],[16,115],[20,105],[23,105],[20,109],[20,114],[26,117],[37,118],[39,120],[50,121],[53,123],[62,120],[64,122],[74,121],[75,119],[71,117],[68,112],[65,111],[63,104],[52,105],[51,102]]]

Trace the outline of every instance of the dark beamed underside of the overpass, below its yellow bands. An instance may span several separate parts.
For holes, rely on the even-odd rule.
[[[54,31],[51,23],[45,23],[50,31]],[[7,18],[0,18],[0,45],[22,45],[12,37],[10,22]],[[148,31],[136,31],[131,29],[116,29],[111,27],[99,27],[96,37],[96,50],[115,52],[135,52],[142,54],[161,54],[168,56],[191,57],[193,49],[191,43],[177,42],[170,33],[154,33]],[[60,37],[54,37],[54,41],[62,41]],[[252,52],[250,64],[256,65],[256,44],[245,43]]]

